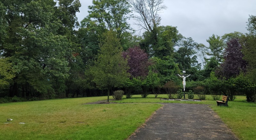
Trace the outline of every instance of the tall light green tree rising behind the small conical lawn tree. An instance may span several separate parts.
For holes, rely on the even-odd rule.
[[[121,45],[127,49],[130,41],[131,27],[127,20],[130,17],[130,4],[125,0],[93,0],[88,6],[89,15],[81,21],[78,38],[81,43],[81,56],[85,65],[92,64],[98,54],[99,40],[108,30],[117,32]]]

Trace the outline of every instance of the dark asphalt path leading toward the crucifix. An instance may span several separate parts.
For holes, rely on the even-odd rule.
[[[207,105],[163,105],[128,140],[238,140]]]

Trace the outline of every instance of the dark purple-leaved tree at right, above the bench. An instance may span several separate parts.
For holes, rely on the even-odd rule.
[[[246,61],[243,60],[244,54],[241,52],[242,46],[239,39],[230,39],[227,42],[227,48],[224,53],[224,62],[216,70],[216,74],[230,78],[245,72]]]

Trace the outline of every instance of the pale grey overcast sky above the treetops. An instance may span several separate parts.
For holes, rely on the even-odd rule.
[[[92,0],[80,0],[80,22],[88,15]],[[176,26],[184,37],[209,46],[206,39],[212,34],[246,33],[249,15],[256,15],[256,0],[164,0],[161,25]],[[136,28],[135,25],[132,25]]]

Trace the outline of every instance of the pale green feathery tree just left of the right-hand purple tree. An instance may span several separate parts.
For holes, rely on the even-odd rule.
[[[206,40],[209,43],[209,49],[211,52],[207,53],[207,55],[214,57],[219,63],[222,62],[223,59],[223,49],[225,47],[225,43],[223,39],[218,35],[212,34],[209,39]]]

